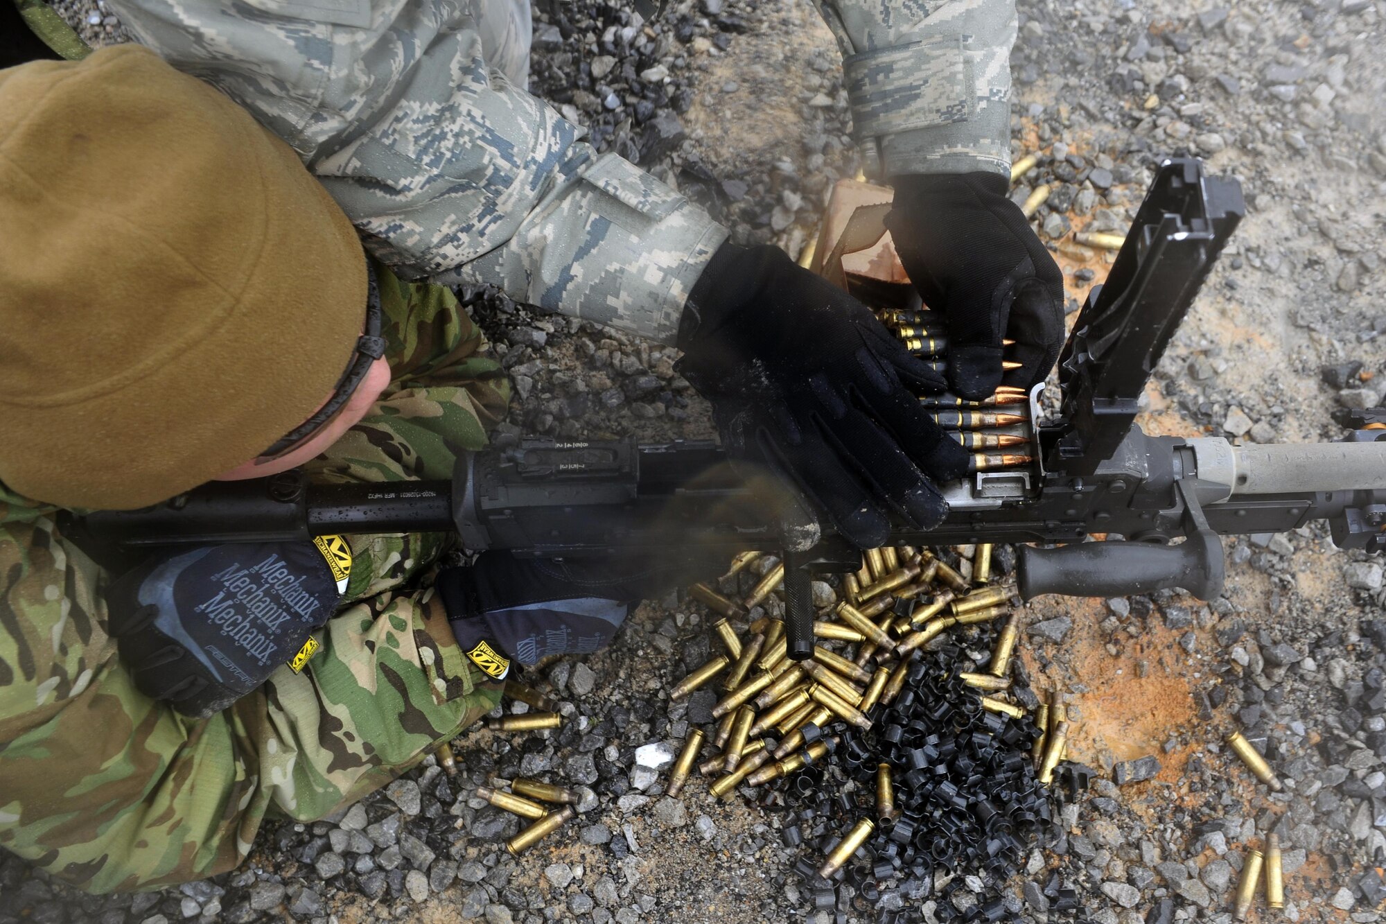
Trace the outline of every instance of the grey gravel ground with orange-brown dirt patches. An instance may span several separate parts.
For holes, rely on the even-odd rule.
[[[603,150],[715,209],[737,240],[798,253],[832,183],[857,169],[837,51],[809,4],[685,0],[643,28],[624,4],[539,6],[536,92],[592,126]],[[1247,193],[1247,219],[1161,362],[1143,426],[1322,440],[1340,433],[1336,409],[1378,404],[1386,4],[1020,10],[1015,153],[1042,158],[1016,196],[1053,186],[1035,225],[1073,308],[1106,258],[1067,233],[1124,232],[1161,157],[1203,155]],[[89,37],[121,35],[86,4],[65,12]],[[711,434],[671,351],[463,294],[523,398],[500,440]],[[1077,920],[1229,921],[1243,856],[1275,828],[1288,920],[1380,920],[1380,895],[1362,882],[1386,859],[1382,565],[1335,551],[1318,526],[1228,551],[1225,597],[1207,604],[1157,594],[1023,610],[1031,684],[1074,694],[1070,758],[1096,780],[1056,806],[1008,884],[1009,918],[1074,920],[1048,910],[1058,873],[1077,889]],[[707,623],[694,604],[643,606],[610,651],[531,678],[563,701],[559,733],[466,734],[457,777],[430,759],[341,817],[267,827],[251,862],[215,881],[83,898],[0,860],[0,923],[827,921],[793,871],[818,855],[782,846],[782,813],[710,802],[700,781],[661,798],[664,774],[640,764],[707,719],[703,699],[671,705],[665,692],[707,658]],[[1227,753],[1234,728],[1271,756],[1285,792],[1268,794]],[[520,860],[499,844],[516,820],[468,799],[475,784],[516,774],[584,792],[579,817]],[[949,900],[966,903],[956,895],[969,888]],[[884,907],[906,898],[887,892]],[[848,916],[876,920],[866,906],[858,896]]]

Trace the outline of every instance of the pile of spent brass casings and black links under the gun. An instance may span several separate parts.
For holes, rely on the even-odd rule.
[[[1052,795],[1091,778],[1063,762],[1063,696],[1041,702],[1013,658],[1019,615],[1009,588],[991,583],[992,548],[963,551],[970,561],[944,549],[868,551],[841,581],[844,599],[819,613],[804,662],[786,656],[780,620],[755,619],[744,638],[732,626],[779,585],[783,566],[772,558],[733,561],[723,587],[761,573],[740,601],[705,584],[690,590],[721,615],[714,630],[726,651],[671,699],[714,680],[723,695],[715,728],[690,730],[667,794],[676,796],[697,766],[715,777],[711,798],[742,789],[783,812],[782,837],[802,848],[796,869],[814,906],[843,921],[868,910],[880,921],[923,920],[929,899],[938,921],[1009,920],[1019,907],[1001,887],[1045,831]],[[719,751],[703,759],[708,737]],[[937,877],[947,882],[936,893],[940,871],[951,878]],[[1058,875],[1045,892],[1051,912],[1077,910]]]

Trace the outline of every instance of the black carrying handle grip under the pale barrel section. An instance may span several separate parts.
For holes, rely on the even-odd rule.
[[[1195,533],[1178,545],[1110,541],[1059,548],[1024,545],[1016,565],[1021,599],[1040,594],[1128,597],[1182,587],[1199,599],[1222,592],[1222,544]]]

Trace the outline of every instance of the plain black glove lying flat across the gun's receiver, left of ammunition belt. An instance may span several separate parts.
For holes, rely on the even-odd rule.
[[[855,545],[886,541],[887,508],[920,527],[942,520],[934,481],[966,473],[967,454],[906,387],[938,391],[942,377],[847,293],[776,247],[723,244],[678,345],[732,458],[793,479]]]

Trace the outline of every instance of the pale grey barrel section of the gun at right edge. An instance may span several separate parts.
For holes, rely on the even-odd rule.
[[[1232,447],[1232,495],[1386,490],[1386,443]]]

